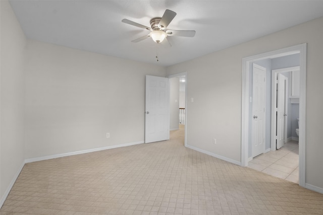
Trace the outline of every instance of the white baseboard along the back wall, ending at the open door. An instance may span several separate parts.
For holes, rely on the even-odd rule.
[[[38,158],[29,158],[29,159],[25,160],[25,164],[37,162],[37,161],[45,161],[45,160],[55,159],[55,158],[62,158],[62,157],[67,157],[67,156],[72,156],[72,155],[81,155],[81,154],[85,154],[85,153],[97,152],[97,151],[102,151],[102,150],[110,150],[110,149],[116,149],[116,148],[121,148],[121,147],[129,147],[129,146],[134,146],[134,145],[143,144],[143,143],[144,143],[144,141],[129,142],[127,144],[120,144],[120,145],[114,145],[114,146],[109,146],[109,147],[101,147],[101,148],[96,148],[96,149],[82,150],[82,151],[77,151],[77,152],[63,153],[63,154],[50,155],[50,156],[44,156],[44,157],[38,157]]]

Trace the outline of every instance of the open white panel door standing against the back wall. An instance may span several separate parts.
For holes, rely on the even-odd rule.
[[[145,142],[156,142],[169,138],[169,79],[146,76]]]

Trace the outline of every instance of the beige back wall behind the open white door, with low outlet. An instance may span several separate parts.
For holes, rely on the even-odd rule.
[[[144,141],[145,75],[164,67],[32,40],[27,62],[26,159]]]

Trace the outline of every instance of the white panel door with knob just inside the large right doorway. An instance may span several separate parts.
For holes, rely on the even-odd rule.
[[[265,150],[265,68],[252,67],[252,157]]]

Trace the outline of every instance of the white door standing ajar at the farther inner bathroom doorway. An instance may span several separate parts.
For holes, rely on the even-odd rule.
[[[285,144],[286,134],[286,94],[287,94],[287,78],[282,74],[277,75],[277,128],[276,128],[276,149],[280,149]]]

